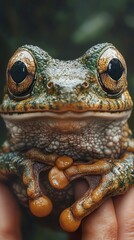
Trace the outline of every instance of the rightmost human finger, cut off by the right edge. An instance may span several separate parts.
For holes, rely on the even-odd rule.
[[[114,200],[119,226],[118,240],[134,239],[134,187]]]

